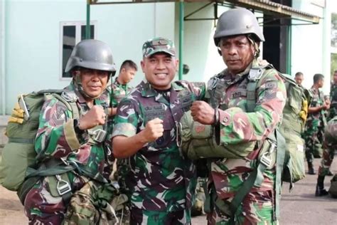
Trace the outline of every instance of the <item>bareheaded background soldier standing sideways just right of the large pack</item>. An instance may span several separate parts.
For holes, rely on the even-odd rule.
[[[316,174],[313,162],[314,155],[319,157],[321,144],[323,143],[323,132],[326,125],[326,110],[330,107],[330,101],[324,100],[324,94],[319,88],[324,84],[324,76],[320,73],[314,75],[314,85],[310,92],[311,104],[308,109],[308,117],[304,129],[306,162],[308,162],[308,174]]]

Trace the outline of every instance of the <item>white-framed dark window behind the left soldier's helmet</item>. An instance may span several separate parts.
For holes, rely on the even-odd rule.
[[[85,21],[60,23],[60,74],[61,79],[71,78],[70,73],[65,73],[65,66],[77,43],[85,39]],[[97,22],[90,23],[90,38],[96,38]]]

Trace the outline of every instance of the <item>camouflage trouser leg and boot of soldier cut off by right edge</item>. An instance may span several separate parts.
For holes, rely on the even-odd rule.
[[[337,116],[333,117],[324,132],[323,157],[319,167],[319,177],[317,178],[316,197],[328,194],[324,189],[324,177],[330,172],[330,167],[337,149]]]

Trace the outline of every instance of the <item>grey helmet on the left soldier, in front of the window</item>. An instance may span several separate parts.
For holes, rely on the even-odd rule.
[[[65,66],[65,72],[80,66],[94,70],[116,72],[112,51],[107,43],[97,40],[84,40],[77,43]]]

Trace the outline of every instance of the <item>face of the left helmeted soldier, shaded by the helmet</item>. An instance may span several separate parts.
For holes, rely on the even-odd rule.
[[[82,68],[80,76],[85,93],[91,98],[99,97],[107,88],[108,75],[108,71]]]

